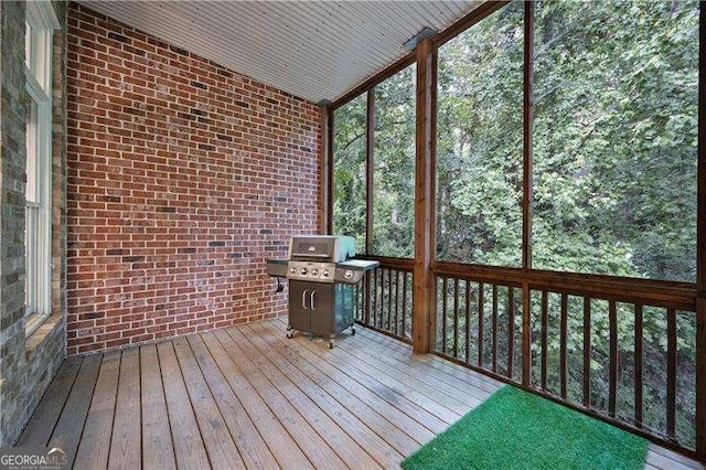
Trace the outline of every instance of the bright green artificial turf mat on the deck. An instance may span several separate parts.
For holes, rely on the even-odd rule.
[[[642,469],[648,441],[505,386],[403,462],[414,469]]]

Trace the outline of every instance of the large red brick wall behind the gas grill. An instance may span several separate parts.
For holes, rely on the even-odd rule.
[[[315,105],[69,3],[69,354],[280,314],[319,229]]]

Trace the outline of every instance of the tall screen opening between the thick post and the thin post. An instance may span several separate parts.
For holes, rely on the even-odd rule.
[[[437,259],[522,264],[523,4],[439,47]]]

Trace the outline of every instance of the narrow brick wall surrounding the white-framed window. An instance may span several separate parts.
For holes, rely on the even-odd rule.
[[[54,194],[52,314],[39,330],[24,331],[25,77],[24,2],[0,2],[0,447],[13,444],[31,417],[65,353],[65,3],[54,9]]]

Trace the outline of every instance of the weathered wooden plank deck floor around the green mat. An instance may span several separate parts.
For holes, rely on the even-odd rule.
[[[281,319],[64,362],[18,445],[77,469],[398,468],[501,384],[359,328],[285,338]],[[648,467],[694,462],[652,447]]]

